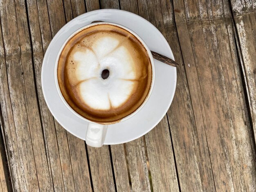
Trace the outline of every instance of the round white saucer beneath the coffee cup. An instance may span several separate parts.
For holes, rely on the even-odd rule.
[[[135,31],[150,50],[174,59],[162,33],[150,22],[136,14],[116,9],[101,9],[85,13],[68,22],[54,36],[45,53],[42,67],[42,88],[45,101],[54,118],[70,133],[85,140],[88,123],[75,116],[62,102],[54,83],[54,63],[63,42],[71,33],[101,20],[124,25]],[[176,88],[176,68],[155,60],[155,85],[146,105],[132,118],[108,126],[104,145],[120,144],[143,136],[164,117],[171,105]]]

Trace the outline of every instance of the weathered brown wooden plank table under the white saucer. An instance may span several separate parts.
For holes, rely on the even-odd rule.
[[[145,136],[92,148],[54,120],[40,71],[57,31],[95,9],[155,25],[180,67]],[[256,190],[255,0],[0,0],[0,191]]]

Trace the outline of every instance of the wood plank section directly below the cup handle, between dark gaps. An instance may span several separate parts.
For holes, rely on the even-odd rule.
[[[94,191],[115,191],[108,146],[103,145],[100,148],[88,146],[87,148]]]

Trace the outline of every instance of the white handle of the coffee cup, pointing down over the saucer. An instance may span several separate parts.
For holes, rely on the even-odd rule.
[[[92,147],[101,147],[104,143],[108,125],[88,123],[85,142]]]

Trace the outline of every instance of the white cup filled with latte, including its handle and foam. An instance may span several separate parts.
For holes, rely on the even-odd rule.
[[[54,74],[63,103],[88,121],[86,143],[101,147],[108,125],[131,118],[148,101],[155,65],[150,49],[134,31],[97,22],[67,38]]]

